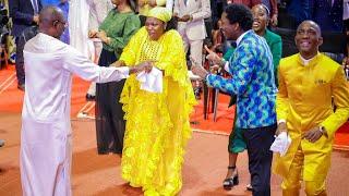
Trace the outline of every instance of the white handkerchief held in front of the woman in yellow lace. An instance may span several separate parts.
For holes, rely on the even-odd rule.
[[[163,72],[157,68],[153,68],[149,73],[141,72],[136,78],[141,83],[141,89],[163,93]]]

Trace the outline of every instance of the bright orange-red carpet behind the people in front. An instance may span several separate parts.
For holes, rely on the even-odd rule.
[[[89,86],[89,82],[85,82],[80,77],[73,78],[72,87],[72,118],[76,118],[79,112],[85,112],[89,117],[94,115],[94,102],[86,102],[85,94]],[[218,110],[216,122],[214,122],[213,113],[208,119],[204,120],[203,101],[195,107],[191,115],[192,127],[203,132],[214,132],[217,134],[229,134],[233,122],[234,108],[228,109],[229,97],[222,94],[218,96]],[[23,102],[23,93],[16,88],[16,78],[14,66],[10,65],[0,70],[0,111],[1,112],[21,112]],[[336,133],[335,145],[338,148],[349,149],[349,122],[341,126]]]

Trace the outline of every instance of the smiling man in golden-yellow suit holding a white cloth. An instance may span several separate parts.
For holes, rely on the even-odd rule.
[[[287,132],[292,142],[285,156],[276,156],[274,171],[284,177],[284,196],[299,195],[301,180],[306,195],[327,195],[334,135],[349,118],[348,83],[342,68],[318,52],[316,23],[301,23],[294,40],[299,53],[280,61],[276,100],[277,134]]]

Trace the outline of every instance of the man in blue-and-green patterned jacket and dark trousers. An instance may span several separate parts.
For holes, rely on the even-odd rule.
[[[236,126],[243,128],[249,154],[249,169],[253,195],[270,195],[269,150],[276,131],[275,85],[273,56],[265,39],[251,28],[253,16],[242,4],[226,8],[222,32],[227,39],[237,40],[237,49],[229,59],[231,78],[208,74],[194,65],[194,74],[206,79],[208,86],[238,96]]]

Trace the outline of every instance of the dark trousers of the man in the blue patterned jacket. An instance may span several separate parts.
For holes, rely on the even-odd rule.
[[[270,168],[273,152],[269,150],[277,125],[257,128],[246,128],[243,136],[246,139],[249,154],[249,170],[251,174],[252,194],[254,196],[270,195]]]

